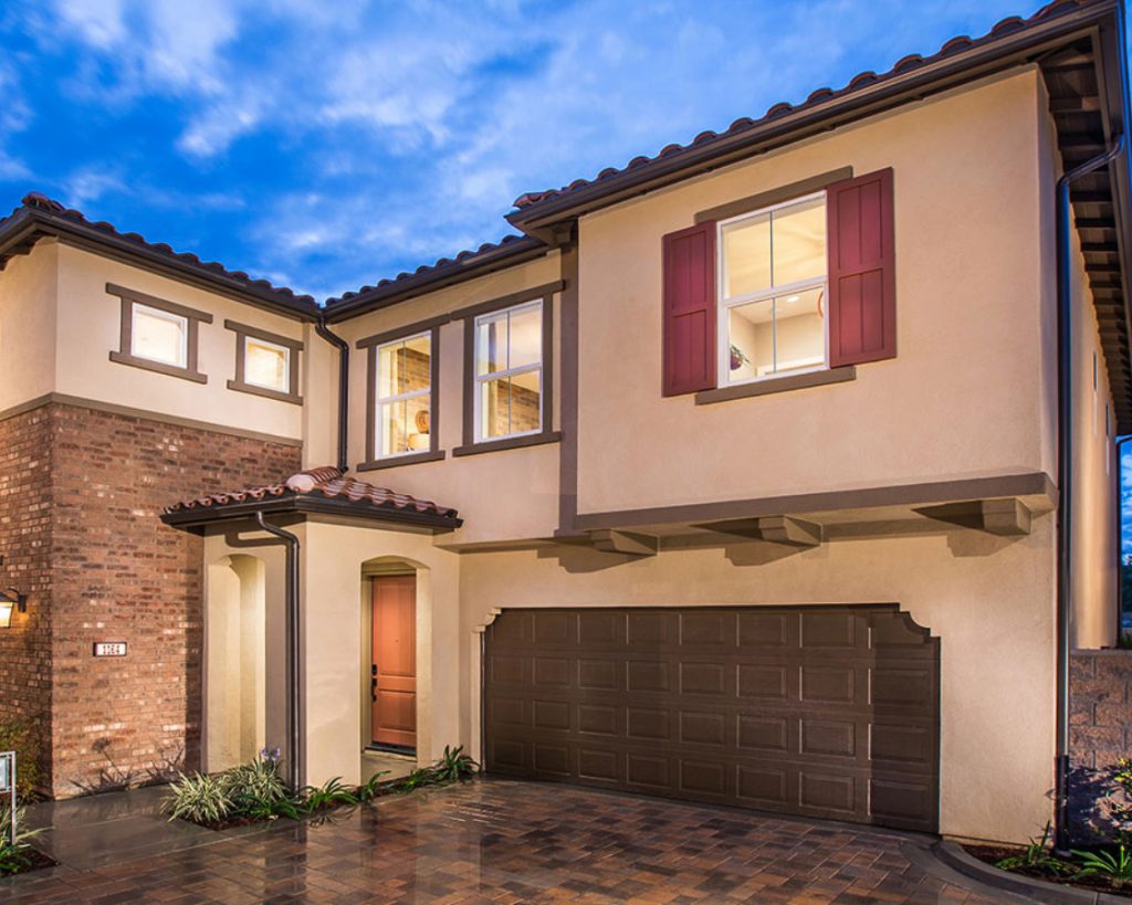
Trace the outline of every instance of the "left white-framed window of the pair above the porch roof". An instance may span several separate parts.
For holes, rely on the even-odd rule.
[[[431,449],[432,333],[377,347],[374,449],[392,458]]]

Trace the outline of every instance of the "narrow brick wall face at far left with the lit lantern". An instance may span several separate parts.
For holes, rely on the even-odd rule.
[[[0,422],[0,588],[29,597],[26,615],[0,630],[0,722],[40,732],[40,767],[51,762],[51,413],[37,408]]]

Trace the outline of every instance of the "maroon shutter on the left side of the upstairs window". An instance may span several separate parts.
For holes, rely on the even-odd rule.
[[[715,386],[715,222],[664,236],[664,395]]]

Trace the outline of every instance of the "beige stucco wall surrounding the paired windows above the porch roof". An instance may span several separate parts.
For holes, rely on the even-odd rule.
[[[366,350],[353,348],[367,336],[458,311],[561,278],[559,256],[511,267],[457,286],[440,290],[391,309],[335,325],[335,331],[351,345],[350,361],[350,463],[366,457]],[[558,345],[559,296],[555,296],[555,345]],[[463,443],[464,352],[462,321],[440,329],[440,448],[448,456],[440,462],[418,463],[362,473],[366,480],[421,499],[460,509],[465,527],[447,538],[449,543],[483,543],[530,537],[549,537],[558,526],[558,446],[500,450],[477,456],[453,457]],[[560,424],[559,357],[555,356],[554,419]]]

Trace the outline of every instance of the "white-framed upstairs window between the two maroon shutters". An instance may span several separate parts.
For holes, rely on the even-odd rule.
[[[827,368],[825,192],[718,230],[718,386]]]

